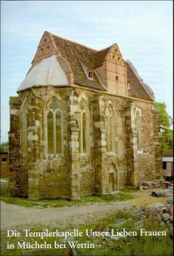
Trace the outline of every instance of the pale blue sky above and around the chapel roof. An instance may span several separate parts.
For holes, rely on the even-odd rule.
[[[1,142],[45,30],[96,50],[117,43],[173,116],[173,1],[1,1]]]

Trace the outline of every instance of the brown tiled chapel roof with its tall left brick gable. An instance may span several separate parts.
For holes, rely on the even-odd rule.
[[[55,55],[57,56],[58,63],[60,63],[60,67],[65,71],[65,75],[70,78],[70,80],[68,80],[69,84],[75,83],[81,86],[106,91],[107,88],[104,86],[102,78],[99,76],[96,68],[103,66],[106,56],[108,56],[115,47],[117,51],[119,48],[116,43],[102,50],[94,50],[80,43],[75,43],[45,31],[40,40],[35,58],[32,61],[32,68],[29,69],[28,74],[31,73],[32,69],[35,69],[35,66],[42,62],[43,59]],[[121,54],[120,51],[119,54]],[[122,61],[126,64],[127,79],[131,84],[130,89],[128,89],[128,96],[151,101],[154,100],[152,89],[142,81],[132,63]],[[92,77],[88,76],[89,72],[92,72]],[[30,87],[35,85],[36,84],[30,83]]]

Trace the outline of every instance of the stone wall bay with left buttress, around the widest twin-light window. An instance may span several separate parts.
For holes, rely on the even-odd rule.
[[[67,95],[67,89],[60,89],[60,97]],[[63,155],[47,155],[45,151],[45,105],[50,97],[56,95],[54,88],[33,90],[32,112],[29,112],[31,125],[28,128],[28,168],[29,198],[69,198],[70,169],[67,147],[67,110],[63,110]],[[37,96],[37,100],[35,100]],[[34,102],[34,101],[35,102]],[[65,105],[65,104],[64,104]]]

